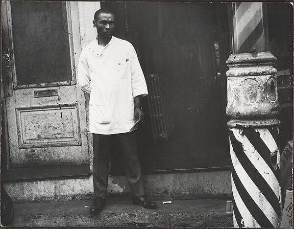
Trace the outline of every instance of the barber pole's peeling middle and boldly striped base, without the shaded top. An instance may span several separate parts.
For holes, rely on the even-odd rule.
[[[227,60],[233,222],[239,228],[278,228],[281,177],[276,58],[270,52]]]

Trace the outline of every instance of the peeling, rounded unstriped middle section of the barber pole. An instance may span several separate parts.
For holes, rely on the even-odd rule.
[[[270,52],[234,54],[227,60],[228,103],[231,118],[261,119],[276,117],[278,103],[276,58]]]

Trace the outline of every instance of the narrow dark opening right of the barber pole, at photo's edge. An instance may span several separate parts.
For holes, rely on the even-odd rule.
[[[277,58],[277,86],[281,113],[281,152],[293,142],[293,5],[290,2],[268,2],[270,52]]]

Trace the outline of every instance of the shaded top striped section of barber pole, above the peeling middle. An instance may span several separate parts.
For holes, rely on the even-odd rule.
[[[232,2],[234,53],[267,51],[266,17],[262,2]]]

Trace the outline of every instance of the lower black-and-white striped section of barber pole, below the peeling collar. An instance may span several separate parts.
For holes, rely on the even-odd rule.
[[[279,228],[279,130],[230,128],[234,227]]]

